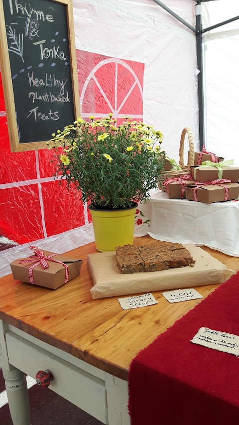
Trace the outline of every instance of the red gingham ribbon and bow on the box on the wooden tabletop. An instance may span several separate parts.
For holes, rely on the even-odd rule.
[[[36,266],[39,266],[39,264],[42,265],[44,269],[47,269],[49,267],[48,261],[54,261],[54,263],[62,264],[65,267],[65,282],[68,282],[69,278],[69,269],[66,264],[62,263],[61,261],[53,260],[51,257],[54,257],[57,254],[50,254],[47,257],[44,256],[44,252],[40,251],[37,247],[34,247],[33,245],[30,246],[30,250],[32,250],[35,255],[27,257],[28,260],[20,260],[19,263],[34,263],[32,266],[29,267],[29,279],[30,283],[34,284],[34,278],[33,278],[33,269],[35,269]]]

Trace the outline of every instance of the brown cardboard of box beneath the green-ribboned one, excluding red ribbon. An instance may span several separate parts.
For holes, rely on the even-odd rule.
[[[238,183],[223,183],[228,187],[228,201],[239,197]],[[197,186],[189,186],[185,188],[186,198],[194,201],[194,188]],[[217,184],[209,184],[201,186],[197,189],[197,201],[211,204],[212,202],[221,202],[225,200],[225,188]]]

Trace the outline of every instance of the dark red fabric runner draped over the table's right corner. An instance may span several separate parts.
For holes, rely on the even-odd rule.
[[[201,327],[239,335],[239,273],[133,359],[132,425],[239,424],[239,358],[190,342]]]

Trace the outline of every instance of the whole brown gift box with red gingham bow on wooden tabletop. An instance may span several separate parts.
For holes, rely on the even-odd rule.
[[[14,279],[57,289],[80,275],[82,260],[65,254],[41,251],[34,246],[30,249],[35,255],[10,263]]]

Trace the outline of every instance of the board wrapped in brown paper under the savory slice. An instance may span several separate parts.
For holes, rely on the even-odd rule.
[[[192,244],[185,244],[184,247],[190,251],[195,260],[194,267],[132,275],[122,275],[119,272],[115,252],[89,254],[87,265],[94,282],[91,288],[93,299],[224,283],[235,275],[233,270],[229,270],[201,248]]]

